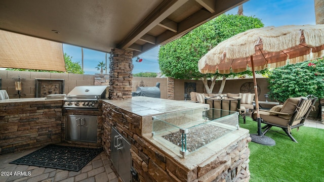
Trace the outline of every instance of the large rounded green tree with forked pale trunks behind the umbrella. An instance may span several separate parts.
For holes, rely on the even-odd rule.
[[[201,74],[198,71],[198,61],[219,42],[240,32],[252,28],[263,27],[260,19],[239,15],[220,15],[217,18],[193,29],[183,37],[160,47],[158,53],[159,68],[163,74],[179,79],[201,79],[207,93],[211,93],[216,79],[223,77],[224,86],[226,77],[242,74],[251,74],[246,71],[235,74]],[[212,83],[209,86],[208,80]],[[219,90],[222,92],[222,90]]]

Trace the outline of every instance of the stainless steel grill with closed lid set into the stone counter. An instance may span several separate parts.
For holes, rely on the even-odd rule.
[[[105,99],[107,86],[76,86],[64,98],[64,109],[99,109],[99,99]]]

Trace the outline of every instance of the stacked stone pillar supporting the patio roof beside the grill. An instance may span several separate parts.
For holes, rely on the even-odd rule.
[[[109,99],[121,100],[132,98],[133,52],[112,49],[109,57]]]

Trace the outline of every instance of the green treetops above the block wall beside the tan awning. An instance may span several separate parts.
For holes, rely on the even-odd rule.
[[[65,69],[68,73],[84,74],[79,62],[72,62],[72,57],[64,53]],[[63,73],[63,71],[49,71],[49,70],[34,70],[34,69],[20,69],[20,68],[8,68],[6,70],[12,71],[36,71],[36,72],[51,72],[51,73]]]

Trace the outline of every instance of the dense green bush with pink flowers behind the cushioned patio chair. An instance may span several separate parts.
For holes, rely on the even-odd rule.
[[[269,97],[278,102],[307,95],[324,98],[324,58],[275,68],[268,82]]]

